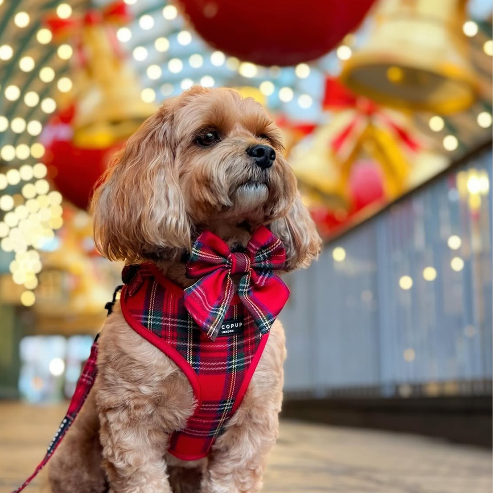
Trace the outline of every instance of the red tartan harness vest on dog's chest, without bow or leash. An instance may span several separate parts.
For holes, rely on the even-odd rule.
[[[211,341],[189,315],[183,290],[152,265],[139,266],[120,303],[129,325],[170,356],[194,390],[195,412],[185,428],[171,435],[169,452],[184,460],[205,457],[239,406],[268,334],[260,333],[234,296],[224,316],[243,319],[243,332]]]

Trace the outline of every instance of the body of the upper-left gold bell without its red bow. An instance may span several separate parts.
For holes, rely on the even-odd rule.
[[[156,106],[141,100],[137,77],[111,46],[102,25],[84,26],[86,57],[80,74],[74,143],[105,148],[130,137]]]

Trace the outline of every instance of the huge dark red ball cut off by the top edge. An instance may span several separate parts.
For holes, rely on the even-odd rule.
[[[335,48],[375,0],[177,0],[217,50],[259,65],[296,65]]]

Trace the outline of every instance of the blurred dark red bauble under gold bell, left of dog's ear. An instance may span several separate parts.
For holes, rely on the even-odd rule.
[[[45,147],[43,162],[60,193],[80,209],[87,209],[94,187],[123,143],[105,149],[76,147],[71,142],[72,118],[73,108],[67,108],[45,125],[40,138]]]

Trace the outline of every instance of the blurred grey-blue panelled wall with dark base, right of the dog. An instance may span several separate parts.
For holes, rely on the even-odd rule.
[[[488,144],[292,276],[285,416],[491,445],[492,158]]]

